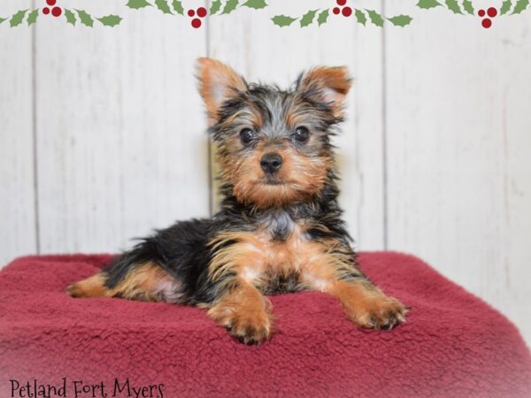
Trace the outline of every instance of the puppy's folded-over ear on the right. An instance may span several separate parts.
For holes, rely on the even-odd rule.
[[[349,71],[344,66],[321,66],[301,74],[296,89],[318,103],[327,103],[336,118],[343,117],[343,103],[350,87]]]

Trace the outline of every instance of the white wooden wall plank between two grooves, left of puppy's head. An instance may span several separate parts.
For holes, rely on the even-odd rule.
[[[119,11],[104,0],[96,14]],[[43,253],[117,251],[209,215],[208,139],[194,80],[206,30],[155,9],[116,29],[36,26]]]

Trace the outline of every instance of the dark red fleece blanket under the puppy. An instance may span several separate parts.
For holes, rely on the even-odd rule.
[[[277,332],[258,347],[202,309],[65,294],[110,260],[27,256],[0,272],[0,397],[531,395],[517,329],[413,256],[359,257],[412,307],[404,325],[363,331],[332,297],[278,295]]]

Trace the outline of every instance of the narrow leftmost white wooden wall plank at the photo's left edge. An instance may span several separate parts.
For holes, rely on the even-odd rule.
[[[31,6],[11,2],[6,11]],[[6,22],[4,22],[5,24]],[[35,218],[33,37],[0,34],[0,264],[38,251]]]

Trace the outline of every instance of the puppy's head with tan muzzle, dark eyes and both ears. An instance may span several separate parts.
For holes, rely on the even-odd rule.
[[[200,58],[198,78],[220,177],[239,202],[281,207],[319,195],[334,163],[330,135],[350,89],[346,68],[312,69],[281,90]]]

